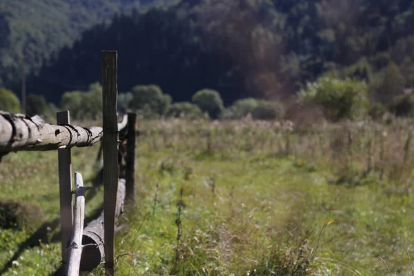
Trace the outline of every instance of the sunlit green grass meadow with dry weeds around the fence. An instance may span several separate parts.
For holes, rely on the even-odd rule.
[[[117,275],[410,275],[409,126],[140,123],[137,207],[121,219]],[[72,171],[93,177],[98,148],[73,149]],[[103,188],[88,193],[92,215]],[[0,195],[43,214],[0,228],[0,274],[54,273],[57,152],[3,157]]]

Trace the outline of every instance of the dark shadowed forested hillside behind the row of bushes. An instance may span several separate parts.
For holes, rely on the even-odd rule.
[[[121,92],[154,83],[175,101],[201,88],[225,103],[281,98],[325,73],[366,79],[375,90],[390,66],[397,87],[411,87],[413,26],[408,0],[183,0],[86,30],[28,87],[55,102],[87,88],[101,79],[103,49],[119,51]]]

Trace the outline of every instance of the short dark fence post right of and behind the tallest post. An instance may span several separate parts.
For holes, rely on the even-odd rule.
[[[135,204],[135,143],[137,141],[137,114],[128,113],[128,134],[126,137],[126,199]]]

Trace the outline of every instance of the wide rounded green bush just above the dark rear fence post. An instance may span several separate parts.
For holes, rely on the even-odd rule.
[[[141,112],[145,118],[165,115],[172,100],[170,95],[163,94],[161,88],[155,85],[135,86],[132,96],[128,107]]]

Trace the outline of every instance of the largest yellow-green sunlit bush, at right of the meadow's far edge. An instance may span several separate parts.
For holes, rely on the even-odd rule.
[[[306,90],[299,92],[299,99],[324,108],[326,119],[359,120],[368,114],[368,86],[355,79],[331,79],[322,77],[308,83]]]

